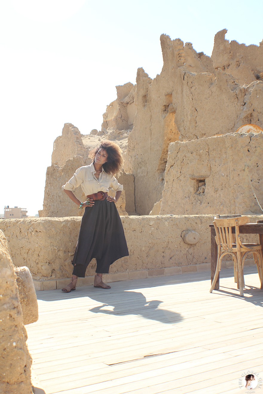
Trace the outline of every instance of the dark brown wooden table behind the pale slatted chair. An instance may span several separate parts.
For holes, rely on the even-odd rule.
[[[217,245],[215,240],[215,236],[216,236],[215,227],[213,224],[210,224],[209,227],[211,228],[211,283],[212,283],[216,272]],[[232,227],[232,233],[233,234],[235,233],[235,227]],[[262,250],[263,250],[263,223],[248,223],[239,226],[239,233],[259,234],[259,243],[262,245]],[[218,289],[219,289],[219,274],[215,285],[215,290]]]

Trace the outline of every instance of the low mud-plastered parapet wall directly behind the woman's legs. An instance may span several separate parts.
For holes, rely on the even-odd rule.
[[[209,224],[213,217],[214,215],[121,216],[130,256],[115,262],[105,281],[209,270]],[[249,218],[250,222],[255,222],[263,216]],[[13,263],[30,269],[36,290],[62,288],[68,282],[65,278],[71,277],[71,261],[80,221],[80,217],[0,221],[0,229],[8,240]],[[189,236],[187,230],[197,232],[200,239],[198,240],[198,234],[190,233]],[[187,239],[197,242],[185,243]],[[258,236],[244,237],[243,240],[258,242]],[[96,261],[92,260],[86,271],[87,277],[80,278],[78,285],[93,283],[95,266]]]

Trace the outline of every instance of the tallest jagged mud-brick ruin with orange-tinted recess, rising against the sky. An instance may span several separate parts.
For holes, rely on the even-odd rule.
[[[218,37],[214,60],[222,58],[224,64],[222,39]],[[190,43],[172,41],[167,35],[160,41],[164,60],[160,75],[151,80],[138,69],[137,113],[125,158],[125,171],[135,179],[138,214],[149,213],[162,197],[170,142],[228,134],[244,123],[263,126],[261,80],[255,76],[249,85],[240,84],[235,73],[233,76],[223,66],[215,69],[212,59],[198,54]],[[246,52],[246,67],[252,70],[251,48],[246,51],[242,45],[233,45],[239,48],[231,55],[233,61],[234,54]],[[253,46],[253,50],[260,55],[262,46]],[[145,189],[149,193],[145,194]]]

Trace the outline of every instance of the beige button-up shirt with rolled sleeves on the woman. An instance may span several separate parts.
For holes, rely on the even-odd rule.
[[[95,177],[95,172],[93,163],[78,168],[73,177],[62,186],[62,189],[73,191],[81,186],[86,196],[98,191],[108,192],[110,188],[114,191],[123,190],[123,186],[119,184],[118,180],[112,174],[105,173],[103,167],[99,180]]]

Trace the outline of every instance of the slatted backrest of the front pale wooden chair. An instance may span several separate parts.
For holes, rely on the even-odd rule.
[[[229,219],[214,218],[213,225],[216,231],[216,243],[226,252],[233,251],[233,244],[237,244],[239,236],[239,225],[249,223],[247,216],[236,216]],[[235,227],[235,234],[232,234],[232,227]],[[235,246],[236,247],[236,246]]]

